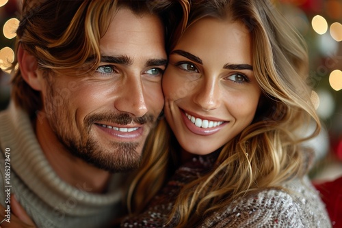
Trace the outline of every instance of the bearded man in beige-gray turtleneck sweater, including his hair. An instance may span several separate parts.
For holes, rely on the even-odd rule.
[[[103,227],[122,212],[118,172],[139,166],[163,108],[164,37],[180,5],[24,1],[0,113],[1,205],[14,194],[37,227]]]

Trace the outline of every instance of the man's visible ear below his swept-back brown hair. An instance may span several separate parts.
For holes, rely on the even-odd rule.
[[[38,61],[36,57],[26,51],[21,44],[18,46],[18,63],[21,69],[21,76],[32,89],[42,90],[42,81],[38,78]]]

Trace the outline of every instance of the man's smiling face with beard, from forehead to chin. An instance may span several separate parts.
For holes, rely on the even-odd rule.
[[[49,124],[42,127],[98,168],[135,169],[163,108],[163,26],[156,16],[135,16],[123,8],[100,47],[101,63],[92,75],[47,77],[42,97]]]

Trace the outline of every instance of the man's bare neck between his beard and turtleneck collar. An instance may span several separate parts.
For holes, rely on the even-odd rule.
[[[88,164],[81,158],[73,156],[58,141],[45,118],[43,123],[36,124],[36,136],[42,152],[45,154],[53,170],[64,182],[91,193],[103,193],[107,189],[110,173]],[[84,187],[86,186],[86,187]]]

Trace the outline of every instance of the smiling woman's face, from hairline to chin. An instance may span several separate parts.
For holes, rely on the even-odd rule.
[[[250,32],[242,23],[202,18],[170,54],[163,76],[165,115],[181,147],[209,154],[248,126],[261,89]]]

